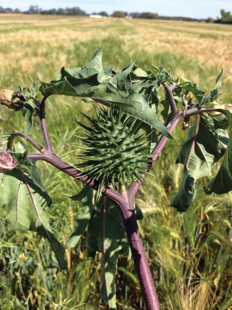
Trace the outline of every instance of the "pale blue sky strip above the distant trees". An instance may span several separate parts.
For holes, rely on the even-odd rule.
[[[19,4],[20,3],[20,4]],[[79,7],[91,14],[92,12],[114,11],[153,12],[165,16],[184,16],[191,18],[220,17],[220,10],[232,12],[232,0],[12,0],[0,1],[0,6],[21,11],[28,10],[30,5],[38,5],[42,9]]]

